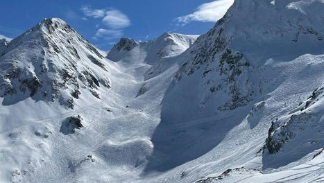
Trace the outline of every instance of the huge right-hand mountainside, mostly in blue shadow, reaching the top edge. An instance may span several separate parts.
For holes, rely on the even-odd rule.
[[[287,157],[306,129],[321,123],[323,111],[315,116],[297,112],[289,118],[298,103],[323,84],[323,8],[323,1],[235,1],[214,28],[176,57],[182,66],[163,98],[147,170],[196,166],[173,180],[186,182],[204,162],[219,173],[220,167],[242,163],[263,173],[278,167],[289,170],[291,162],[305,163],[309,153],[323,146],[320,139]],[[274,122],[269,132],[271,121],[283,116],[289,117]],[[307,121],[307,127],[299,124]],[[286,123],[291,125],[283,127]],[[287,149],[289,140],[282,139],[290,139]],[[264,144],[282,147],[282,155],[257,153]]]

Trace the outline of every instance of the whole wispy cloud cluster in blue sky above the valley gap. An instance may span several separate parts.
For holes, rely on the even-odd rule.
[[[96,34],[92,39],[99,40],[99,37],[105,40],[113,40],[123,36],[123,29],[130,26],[130,19],[127,15],[123,14],[120,10],[116,9],[93,9],[91,6],[83,6],[83,20],[87,20],[87,17],[101,18],[103,26],[106,28],[99,28],[99,24],[96,24]]]

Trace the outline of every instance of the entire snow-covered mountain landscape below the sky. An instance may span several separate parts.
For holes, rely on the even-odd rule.
[[[0,41],[1,182],[323,181],[323,9],[235,0],[108,55],[60,19]]]

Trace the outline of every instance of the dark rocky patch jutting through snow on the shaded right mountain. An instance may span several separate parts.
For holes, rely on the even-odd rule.
[[[199,37],[196,44],[187,51],[191,58],[182,64],[176,74],[176,80],[181,82],[184,77],[201,73],[201,83],[204,83],[206,89],[202,105],[212,96],[225,92],[229,98],[219,105],[220,111],[246,105],[255,93],[254,84],[248,77],[253,72],[253,66],[242,53],[230,49],[231,38],[223,30],[222,27],[215,26],[206,35]]]

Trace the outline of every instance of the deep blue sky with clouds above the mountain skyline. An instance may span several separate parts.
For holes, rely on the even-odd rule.
[[[203,34],[234,0],[10,0],[1,3],[0,38],[13,38],[44,18],[59,17],[108,50],[121,37],[151,40],[164,32]]]

